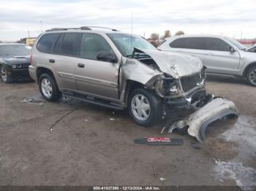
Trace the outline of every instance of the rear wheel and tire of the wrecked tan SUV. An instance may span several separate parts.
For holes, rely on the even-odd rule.
[[[39,77],[39,90],[47,101],[58,101],[61,98],[61,92],[52,75],[42,74]]]

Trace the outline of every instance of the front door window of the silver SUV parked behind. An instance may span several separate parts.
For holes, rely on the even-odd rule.
[[[206,50],[230,52],[230,45],[222,39],[206,38]]]

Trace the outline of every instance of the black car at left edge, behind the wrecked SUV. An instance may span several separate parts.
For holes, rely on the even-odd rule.
[[[29,55],[31,47],[18,43],[0,44],[0,77],[5,83],[15,79],[31,80]]]

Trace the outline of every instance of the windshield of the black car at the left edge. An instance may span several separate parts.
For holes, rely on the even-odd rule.
[[[31,47],[25,45],[2,45],[0,46],[0,55],[29,55]]]

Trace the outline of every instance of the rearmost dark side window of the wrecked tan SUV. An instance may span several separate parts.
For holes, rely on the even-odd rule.
[[[39,39],[37,43],[37,49],[40,52],[50,53],[57,39],[59,38],[59,34],[45,34]]]

